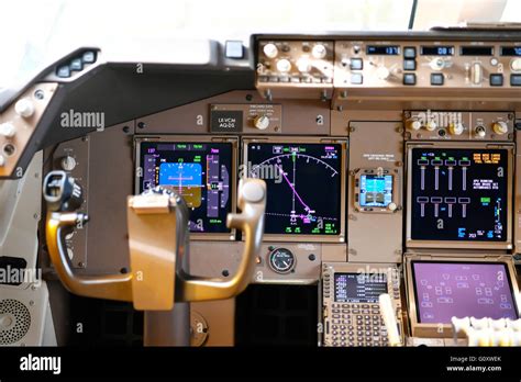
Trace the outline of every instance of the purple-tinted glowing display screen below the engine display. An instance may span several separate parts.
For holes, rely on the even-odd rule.
[[[413,261],[419,323],[450,324],[451,318],[518,318],[507,265]]]

